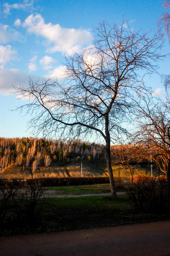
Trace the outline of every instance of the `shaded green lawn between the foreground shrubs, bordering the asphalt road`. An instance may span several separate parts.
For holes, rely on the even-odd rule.
[[[84,229],[104,226],[116,226],[146,221],[169,219],[169,216],[137,214],[128,203],[127,195],[117,199],[109,196],[91,196],[79,198],[49,198],[42,218],[32,226],[19,226],[10,223],[2,235],[50,232],[71,229]]]

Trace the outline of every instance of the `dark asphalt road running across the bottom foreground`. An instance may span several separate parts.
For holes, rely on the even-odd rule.
[[[0,237],[1,256],[170,256],[170,221]]]

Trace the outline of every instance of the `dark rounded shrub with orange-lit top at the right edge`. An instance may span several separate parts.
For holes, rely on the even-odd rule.
[[[169,213],[170,190],[165,176],[157,180],[148,176],[136,176],[127,185],[126,194],[137,212]]]

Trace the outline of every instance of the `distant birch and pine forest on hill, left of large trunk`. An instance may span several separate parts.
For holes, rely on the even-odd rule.
[[[52,160],[69,162],[69,153],[83,157],[99,158],[105,153],[105,145],[83,142],[81,140],[48,140],[44,138],[2,138],[0,137],[1,170],[11,165],[32,167],[49,167]]]

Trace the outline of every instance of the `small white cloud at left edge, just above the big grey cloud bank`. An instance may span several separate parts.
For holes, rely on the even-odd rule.
[[[0,45],[0,67],[3,68],[5,64],[14,59],[15,50],[11,49],[11,45]]]

